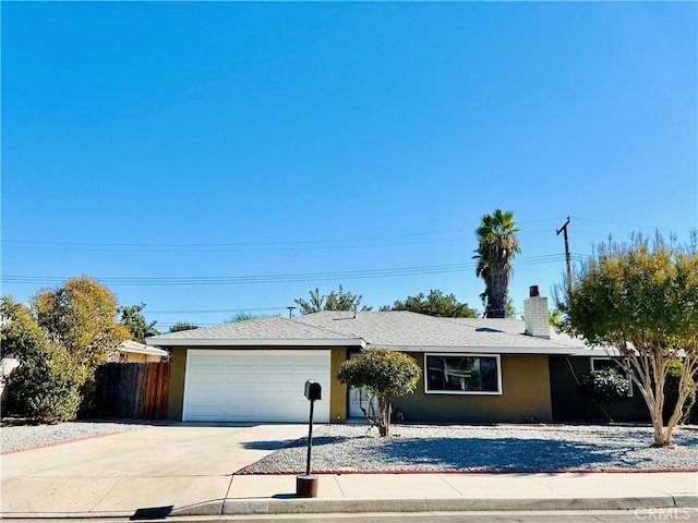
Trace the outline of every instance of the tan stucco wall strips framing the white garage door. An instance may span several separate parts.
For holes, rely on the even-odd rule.
[[[323,390],[323,400],[329,401],[330,423],[344,423],[347,419],[347,386],[337,380],[337,373],[342,362],[347,358],[347,349],[344,346],[202,346],[197,349],[213,350],[329,350],[330,351],[330,387],[329,391]],[[170,392],[168,400],[168,419],[181,419],[184,408],[184,370],[186,368],[186,348],[177,346],[172,350],[172,370],[170,375]]]

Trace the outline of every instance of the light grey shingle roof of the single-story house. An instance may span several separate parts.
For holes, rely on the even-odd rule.
[[[437,318],[406,311],[324,311],[294,318],[254,318],[148,338],[148,344],[182,346],[310,345],[386,346],[414,352],[525,352],[571,354],[588,351],[581,340],[525,335],[512,319]]]

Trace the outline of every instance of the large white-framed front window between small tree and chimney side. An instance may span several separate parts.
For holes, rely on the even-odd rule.
[[[502,392],[500,356],[480,354],[426,354],[426,392],[484,393]]]

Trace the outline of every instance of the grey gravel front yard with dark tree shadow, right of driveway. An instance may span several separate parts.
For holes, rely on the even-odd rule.
[[[698,469],[698,427],[674,433],[674,449],[652,447],[650,426],[394,425],[380,438],[365,425],[313,433],[313,472],[685,470]],[[302,439],[240,474],[302,473]]]

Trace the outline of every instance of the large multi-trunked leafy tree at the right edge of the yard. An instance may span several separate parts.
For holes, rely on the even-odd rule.
[[[610,241],[582,264],[557,297],[562,329],[591,345],[614,348],[652,418],[654,443],[670,446],[698,372],[698,251],[653,242]],[[664,426],[664,385],[679,362],[676,404]]]

